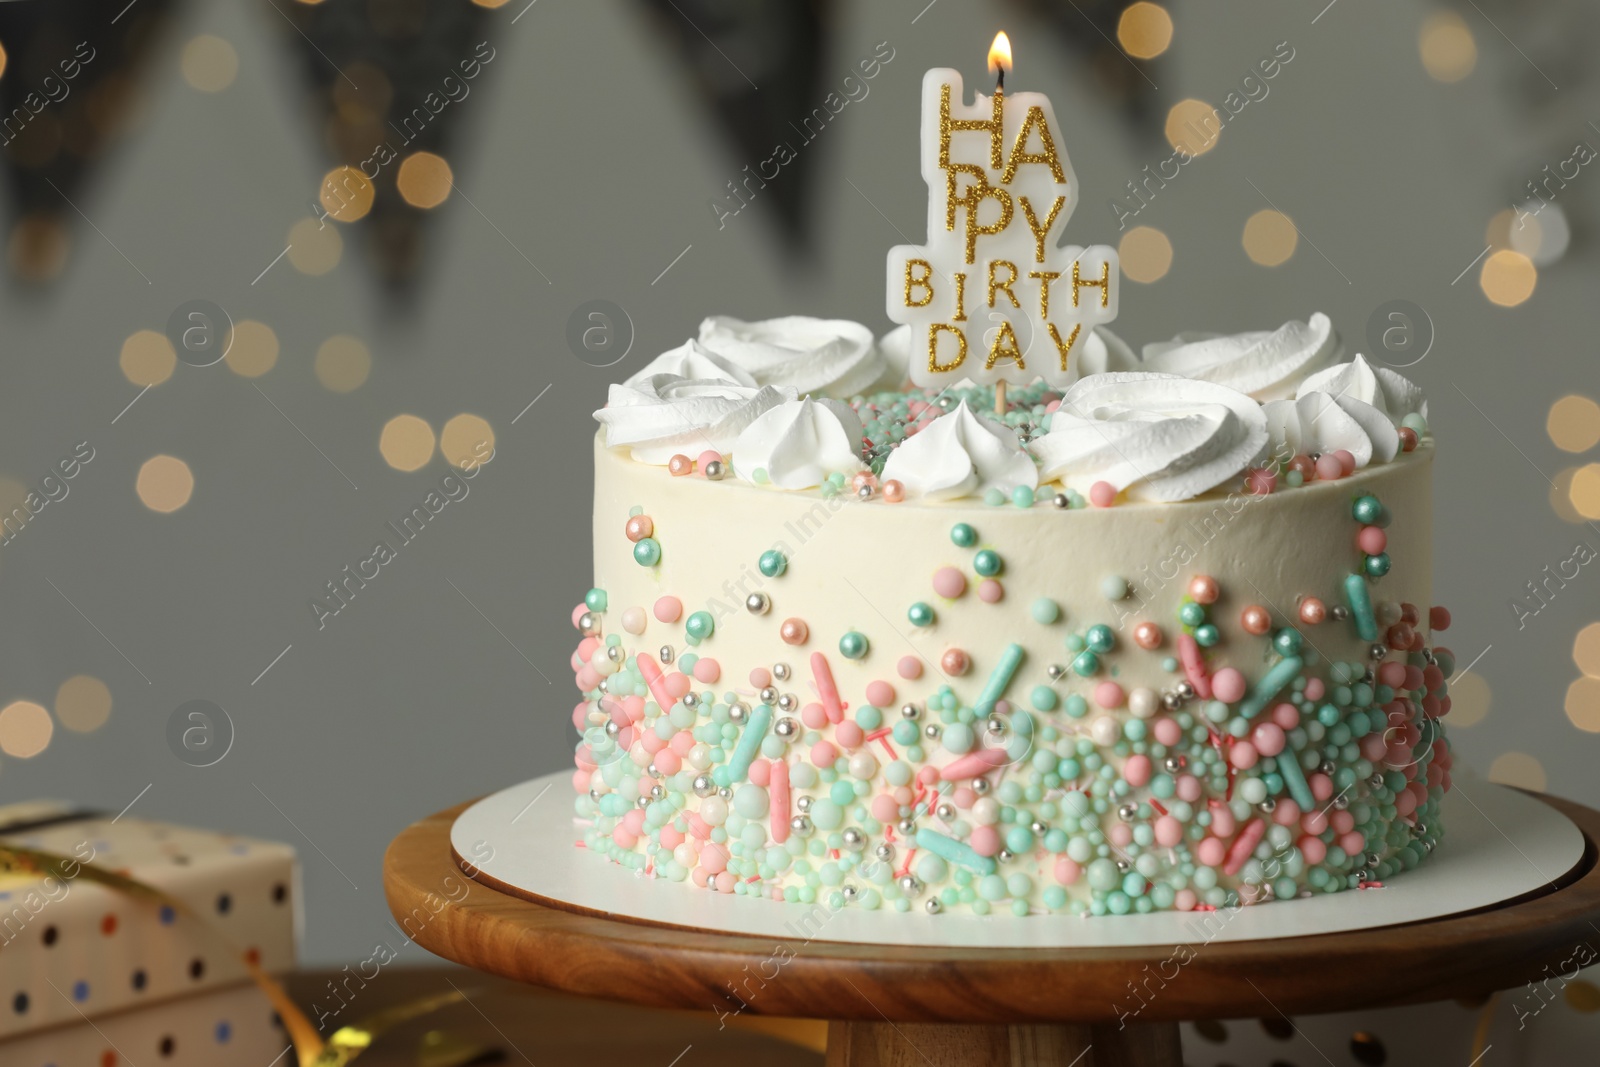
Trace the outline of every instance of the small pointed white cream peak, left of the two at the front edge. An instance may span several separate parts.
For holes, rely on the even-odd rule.
[[[733,443],[733,472],[757,483],[755,472],[781,490],[810,490],[861,462],[861,419],[838,400],[789,400],[763,411]]]

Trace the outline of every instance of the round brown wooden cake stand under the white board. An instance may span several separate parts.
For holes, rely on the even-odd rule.
[[[1438,920],[1187,953],[826,941],[789,953],[773,937],[578,913],[477,883],[462,893],[450,829],[467,805],[395,838],[384,889],[418,944],[480,971],[635,1005],[827,1019],[830,1067],[1176,1067],[1186,1019],[1475,997],[1571,955],[1600,921],[1600,813],[1539,800],[1586,838],[1550,888]]]

